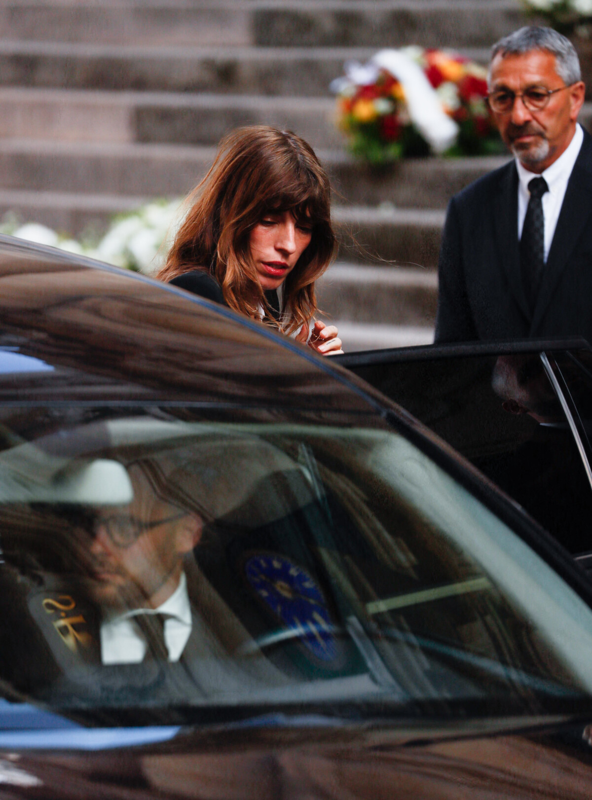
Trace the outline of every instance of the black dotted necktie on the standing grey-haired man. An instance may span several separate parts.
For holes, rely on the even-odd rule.
[[[545,178],[533,178],[528,184],[528,190],[530,200],[520,239],[520,268],[526,299],[530,310],[533,310],[545,264],[545,217],[542,214],[542,195],[549,191],[549,186],[546,185]]]

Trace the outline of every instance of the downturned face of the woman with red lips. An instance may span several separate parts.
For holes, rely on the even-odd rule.
[[[277,289],[312,238],[310,225],[291,211],[266,214],[250,232],[249,249],[263,290]]]

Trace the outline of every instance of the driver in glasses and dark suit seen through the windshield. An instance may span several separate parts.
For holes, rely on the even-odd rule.
[[[26,598],[58,669],[40,654],[45,685],[23,690],[120,705],[284,685],[198,567],[198,479],[166,458],[140,459],[127,474],[128,504],[70,509],[74,569],[44,572]]]

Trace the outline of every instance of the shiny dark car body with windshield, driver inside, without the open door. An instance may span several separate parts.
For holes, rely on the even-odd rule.
[[[590,581],[420,405],[2,238],[0,796],[587,798]]]

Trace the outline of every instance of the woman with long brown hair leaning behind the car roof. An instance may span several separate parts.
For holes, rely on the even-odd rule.
[[[268,126],[235,130],[188,203],[158,278],[308,340],[321,354],[342,352],[337,328],[314,321],[314,282],[337,246],[329,178],[302,138]]]

